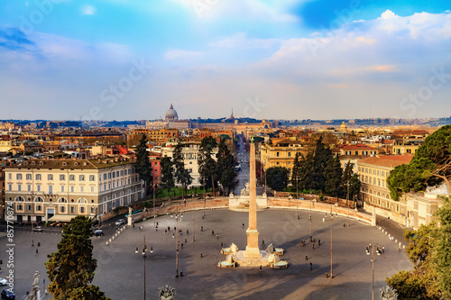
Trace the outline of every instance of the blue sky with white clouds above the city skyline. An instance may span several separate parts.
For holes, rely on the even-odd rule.
[[[450,6],[1,0],[0,119],[449,116]]]

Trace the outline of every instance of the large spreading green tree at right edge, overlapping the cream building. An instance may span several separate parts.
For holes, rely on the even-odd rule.
[[[387,178],[391,198],[399,200],[401,193],[424,190],[426,186],[445,183],[451,191],[451,125],[429,135],[419,146],[408,165],[391,170]]]

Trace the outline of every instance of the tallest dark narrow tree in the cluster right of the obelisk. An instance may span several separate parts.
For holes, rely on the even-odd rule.
[[[326,188],[326,167],[332,157],[332,151],[319,137],[313,154],[313,188],[324,191]]]

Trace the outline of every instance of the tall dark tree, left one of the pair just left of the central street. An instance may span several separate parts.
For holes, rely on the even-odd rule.
[[[207,188],[211,187],[213,195],[215,195],[216,186],[216,161],[213,159],[213,150],[216,148],[216,140],[211,136],[203,138],[200,141],[200,149],[198,155],[198,172],[200,174],[202,184]]]

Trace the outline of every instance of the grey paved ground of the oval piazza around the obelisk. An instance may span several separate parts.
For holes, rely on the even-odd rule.
[[[301,240],[308,241],[309,213],[299,212],[298,220],[294,210],[283,209],[258,213],[259,239],[266,245],[272,242],[286,250],[281,259],[290,263],[289,268],[263,268],[262,272],[258,268],[217,268],[217,262],[225,258],[219,253],[221,242],[225,246],[235,242],[240,250],[244,250],[248,215],[228,210],[207,210],[202,220],[202,214],[201,211],[195,213],[195,242],[192,241],[193,213],[184,213],[183,221],[179,222],[183,231],[179,271],[183,272],[183,277],[178,278],[175,277],[176,241],[172,238],[176,225],[174,217],[158,217],[158,232],[152,219],[138,223],[135,228],[129,227],[109,246],[106,246],[106,241],[115,232],[115,226],[106,224],[106,235],[93,239],[97,259],[94,284],[112,299],[143,299],[143,257],[134,251],[136,246],[142,249],[144,235],[149,250],[153,248],[153,253],[148,253],[146,258],[147,299],[157,299],[158,287],[165,285],[175,287],[176,299],[371,299],[372,264],[371,257],[365,254],[369,242],[385,247],[385,253],[376,256],[374,263],[376,296],[385,286],[385,277],[400,269],[412,268],[405,251],[399,252],[398,245],[384,232],[354,220],[351,220],[350,227],[344,227],[343,224],[347,223],[345,217],[337,216],[333,221],[334,278],[326,278],[325,274],[330,272],[329,217],[325,218],[321,213],[312,214],[313,238],[317,241],[313,250],[311,244],[299,245]],[[245,228],[242,223],[245,223]],[[143,225],[142,232],[138,225]],[[164,229],[168,226],[171,231],[165,234]],[[203,226],[203,232],[200,232],[200,226]],[[397,234],[400,235],[400,231]],[[15,229],[16,299],[23,299],[30,289],[35,270],[44,275],[41,276],[42,283],[47,275],[44,268],[46,254],[55,251],[60,241],[60,234],[55,230],[33,235],[35,245],[41,242],[37,256],[36,247],[31,246],[32,234]],[[318,239],[321,240],[319,247]],[[0,242],[5,245],[6,238],[0,238]],[[0,259],[4,261],[0,277],[5,277],[5,250],[1,251]],[[47,285],[48,279],[45,280]],[[45,297],[49,298],[50,295]]]

